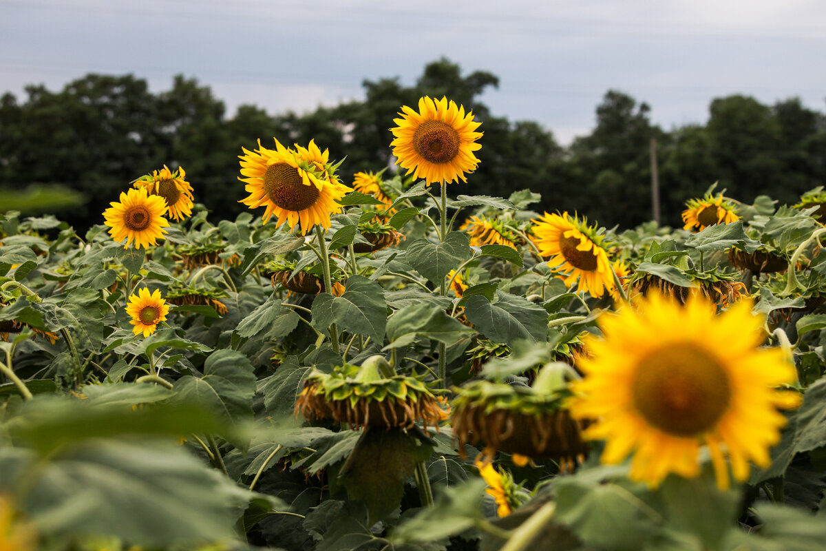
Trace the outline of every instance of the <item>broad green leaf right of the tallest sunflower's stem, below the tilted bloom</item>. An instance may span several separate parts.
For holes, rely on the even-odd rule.
[[[465,316],[482,335],[502,344],[515,340],[544,343],[548,337],[548,312],[523,297],[497,292],[496,302],[485,297],[470,297]]]

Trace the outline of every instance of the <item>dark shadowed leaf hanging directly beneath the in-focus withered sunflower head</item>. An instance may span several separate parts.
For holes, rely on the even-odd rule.
[[[405,493],[415,465],[430,458],[432,447],[401,429],[368,426],[339,471],[350,499],[367,506],[368,525],[392,513]]]

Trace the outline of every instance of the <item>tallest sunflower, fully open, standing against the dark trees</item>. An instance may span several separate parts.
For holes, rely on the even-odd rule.
[[[427,183],[467,182],[465,173],[473,172],[479,159],[473,154],[482,149],[476,140],[482,124],[473,122],[472,112],[465,115],[464,107],[456,107],[447,97],[434,101],[430,97],[419,100],[419,112],[401,107],[401,119],[393,119],[398,126],[390,131],[396,136],[390,146],[398,157],[396,164],[415,170],[415,178]]]

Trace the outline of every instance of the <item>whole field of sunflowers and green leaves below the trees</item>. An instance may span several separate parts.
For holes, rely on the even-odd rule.
[[[387,126],[242,149],[235,220],[167,166],[0,215],[0,550],[826,549],[826,192],[609,229]]]

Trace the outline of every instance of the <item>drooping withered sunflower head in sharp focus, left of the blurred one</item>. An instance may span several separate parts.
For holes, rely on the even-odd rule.
[[[314,371],[306,378],[296,402],[296,415],[332,418],[350,427],[411,428],[417,421],[439,427],[450,408],[435,397],[424,378],[386,377],[370,359],[361,367],[344,363],[332,373]]]

